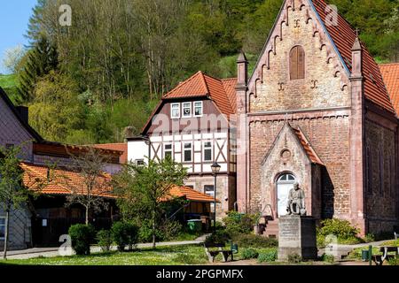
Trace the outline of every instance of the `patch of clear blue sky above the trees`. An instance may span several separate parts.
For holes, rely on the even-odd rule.
[[[2,1],[0,8],[0,73],[5,73],[4,51],[18,44],[27,44],[27,38],[24,35],[35,4],[36,0]]]

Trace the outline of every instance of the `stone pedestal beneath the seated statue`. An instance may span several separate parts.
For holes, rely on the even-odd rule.
[[[278,218],[278,260],[290,254],[302,259],[317,259],[316,220],[299,215]]]

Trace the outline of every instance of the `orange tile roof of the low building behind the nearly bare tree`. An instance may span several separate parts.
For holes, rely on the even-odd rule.
[[[51,169],[49,167],[39,164],[21,163],[20,167],[24,171],[23,183],[24,185],[45,195],[71,195],[85,194],[86,188],[84,186],[84,179],[78,172],[73,172],[64,168]],[[50,182],[48,182],[50,178]],[[96,180],[99,184],[98,188],[94,190],[94,194],[114,198],[112,194],[113,188],[110,185],[111,176],[107,173],[98,175]]]

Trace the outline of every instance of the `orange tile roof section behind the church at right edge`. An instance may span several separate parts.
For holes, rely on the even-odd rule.
[[[396,114],[399,114],[399,63],[379,65],[379,70],[394,104]]]

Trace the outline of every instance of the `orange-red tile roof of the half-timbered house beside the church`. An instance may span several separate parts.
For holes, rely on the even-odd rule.
[[[235,84],[236,79],[220,80],[201,71],[192,75],[188,80],[179,83],[162,99],[184,97],[209,97],[219,110],[229,116],[236,111]]]

